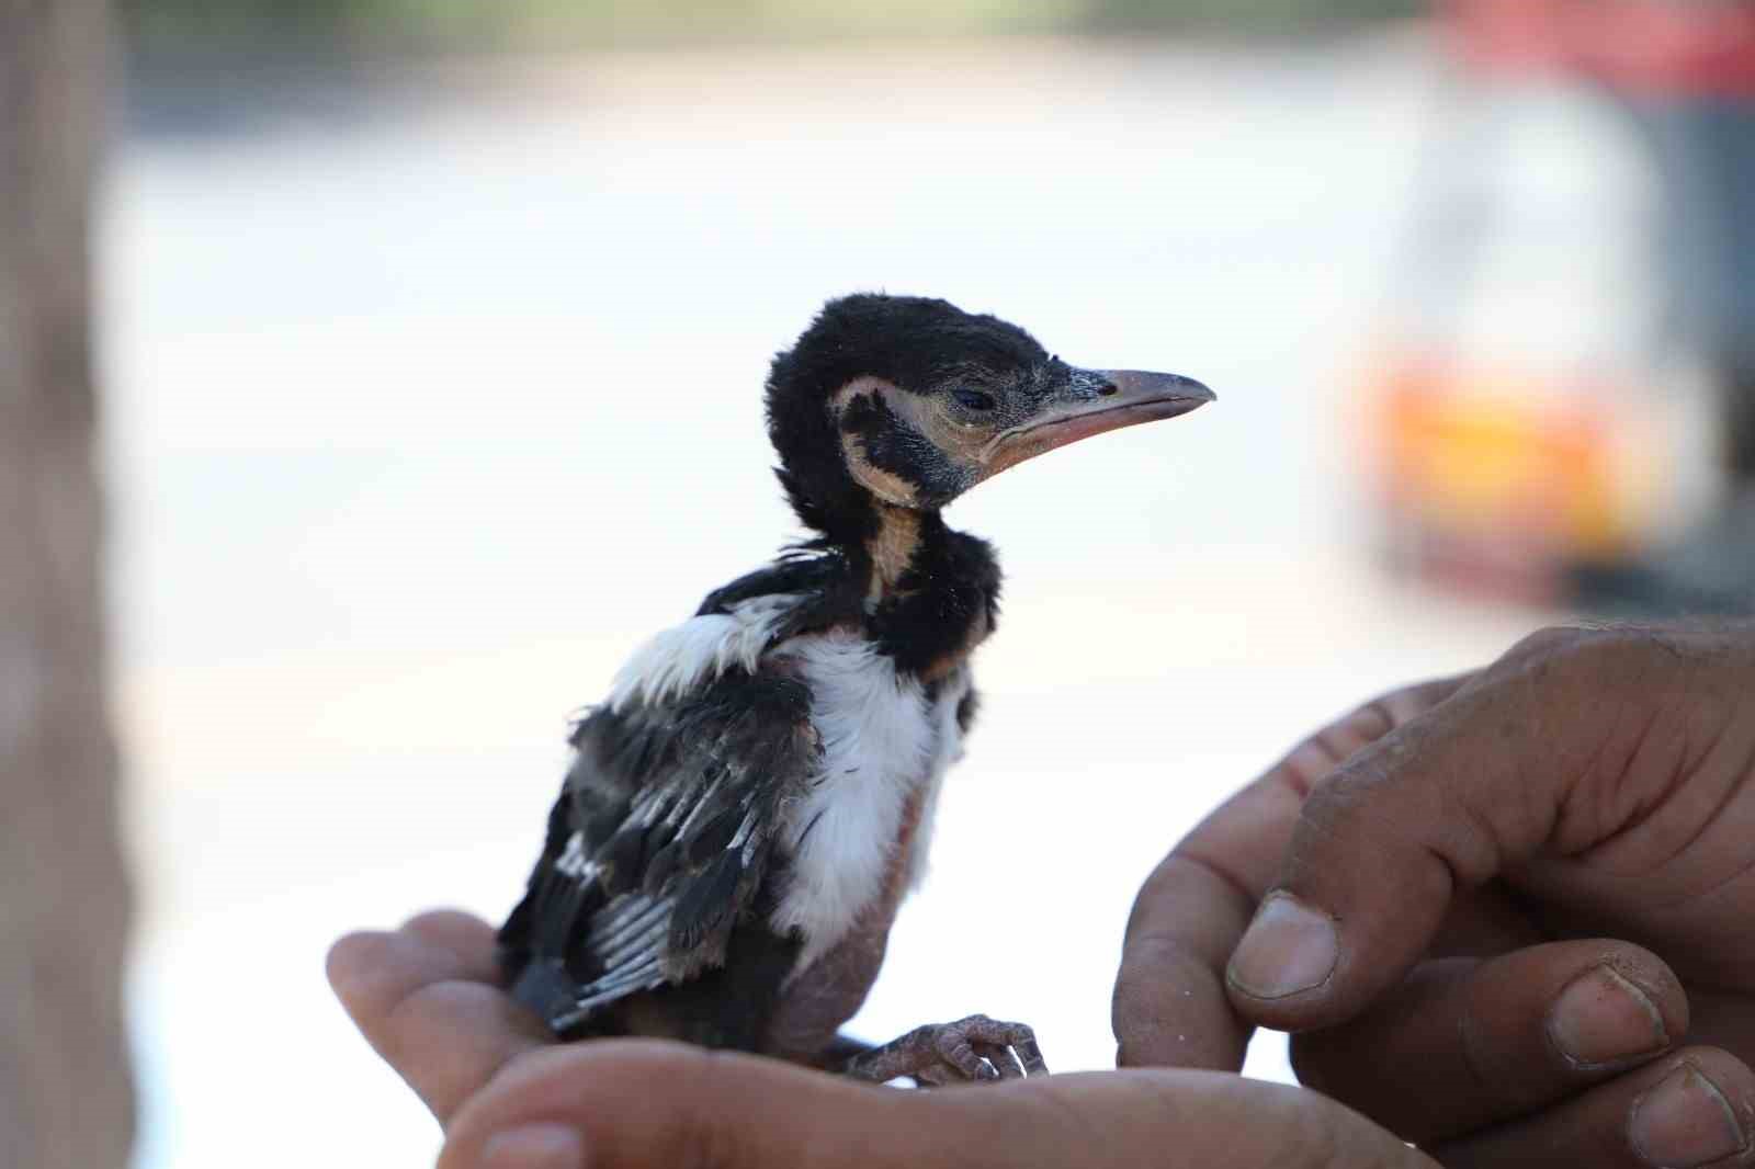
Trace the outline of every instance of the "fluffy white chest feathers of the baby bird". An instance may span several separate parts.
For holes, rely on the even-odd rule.
[[[823,744],[809,788],[784,809],[786,878],[770,918],[800,936],[802,974],[856,927],[881,922],[886,934],[921,876],[939,781],[962,746],[956,707],[969,676],[958,667],[925,685],[855,634],[800,639],[776,656],[809,685]]]

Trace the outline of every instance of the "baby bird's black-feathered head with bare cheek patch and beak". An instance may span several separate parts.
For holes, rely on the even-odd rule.
[[[835,541],[869,535],[876,502],[935,511],[1025,458],[1211,400],[1188,377],[1078,369],[995,316],[883,295],[823,305],[767,383],[786,495]]]

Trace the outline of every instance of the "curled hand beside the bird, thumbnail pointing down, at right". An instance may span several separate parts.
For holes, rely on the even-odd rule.
[[[1118,1058],[1236,1067],[1262,1023],[1450,1165],[1744,1164],[1751,825],[1755,627],[1537,634],[1178,844],[1128,925]]]

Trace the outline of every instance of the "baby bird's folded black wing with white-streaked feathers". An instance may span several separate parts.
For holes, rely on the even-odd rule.
[[[811,693],[732,671],[579,721],[523,904],[500,932],[514,993],[565,1030],[725,960],[788,797],[821,755]]]

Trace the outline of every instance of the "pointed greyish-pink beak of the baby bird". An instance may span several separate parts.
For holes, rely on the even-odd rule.
[[[1148,374],[1137,369],[1081,370],[1064,400],[1049,404],[1030,421],[1000,432],[983,448],[981,477],[997,476],[1027,458],[1093,434],[1176,418],[1216,398],[1218,395],[1199,381],[1181,374]]]

